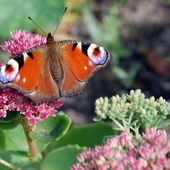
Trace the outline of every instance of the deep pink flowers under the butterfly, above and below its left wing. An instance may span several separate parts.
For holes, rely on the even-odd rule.
[[[1,48],[11,54],[24,52],[34,46],[44,45],[46,37],[32,34],[28,31],[16,30],[11,32],[11,39],[6,41]],[[0,66],[2,62],[0,63]],[[22,93],[11,88],[0,89],[0,117],[6,117],[7,111],[17,110],[23,114],[30,125],[46,119],[48,116],[55,116],[57,108],[62,106],[60,100],[44,102],[37,106],[22,95]]]

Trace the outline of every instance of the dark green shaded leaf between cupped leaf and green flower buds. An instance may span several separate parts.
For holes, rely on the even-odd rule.
[[[101,144],[105,136],[115,134],[110,123],[98,122],[85,126],[73,126],[66,135],[56,142],[56,147],[68,144],[94,147]]]

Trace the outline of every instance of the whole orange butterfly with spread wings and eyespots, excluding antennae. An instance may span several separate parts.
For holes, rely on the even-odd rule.
[[[105,67],[111,56],[92,43],[56,42],[20,53],[0,68],[0,85],[21,91],[36,104],[81,93],[89,78]]]

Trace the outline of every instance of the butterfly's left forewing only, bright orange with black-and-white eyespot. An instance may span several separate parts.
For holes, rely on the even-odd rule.
[[[34,53],[20,53],[10,59],[0,69],[0,81],[4,86],[16,88],[21,92],[33,91],[44,65],[43,60],[39,60],[40,55],[41,51],[35,51]]]

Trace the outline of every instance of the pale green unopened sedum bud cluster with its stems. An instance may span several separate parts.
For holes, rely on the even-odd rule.
[[[148,126],[163,127],[167,115],[170,115],[170,103],[162,97],[146,98],[141,90],[131,90],[130,94],[99,98],[95,102],[95,119],[110,118],[115,124],[115,129],[133,131],[140,137],[139,128]],[[167,120],[168,122],[169,120]]]

